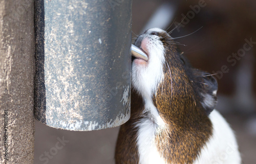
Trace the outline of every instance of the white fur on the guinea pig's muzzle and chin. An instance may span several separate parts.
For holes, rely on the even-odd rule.
[[[149,59],[147,65],[139,65],[134,62],[132,65],[133,86],[144,98],[151,98],[156,92],[158,84],[164,78],[164,47],[158,36],[150,35],[153,31],[164,32],[161,29],[154,28],[141,35],[141,37],[148,40],[147,51]]]

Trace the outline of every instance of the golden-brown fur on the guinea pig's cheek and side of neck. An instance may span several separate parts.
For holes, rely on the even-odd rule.
[[[165,128],[156,133],[155,143],[169,162],[191,163],[211,136],[212,125],[194,89],[196,86],[188,78],[182,62],[175,60],[179,54],[168,54],[164,79],[153,96],[153,103],[165,122]]]

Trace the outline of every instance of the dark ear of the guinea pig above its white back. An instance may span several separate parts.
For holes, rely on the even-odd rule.
[[[217,105],[217,79],[209,73],[202,73],[204,87],[201,92],[201,104],[205,108],[206,114],[209,115]]]

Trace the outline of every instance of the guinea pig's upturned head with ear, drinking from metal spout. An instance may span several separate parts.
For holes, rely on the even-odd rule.
[[[177,122],[214,110],[217,80],[191,67],[167,32],[149,29],[134,44],[148,56],[147,61],[134,59],[132,63],[132,86],[144,103],[152,101],[160,115]]]

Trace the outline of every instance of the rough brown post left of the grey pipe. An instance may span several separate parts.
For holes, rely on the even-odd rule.
[[[33,163],[34,1],[0,0],[0,163]]]

